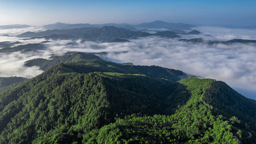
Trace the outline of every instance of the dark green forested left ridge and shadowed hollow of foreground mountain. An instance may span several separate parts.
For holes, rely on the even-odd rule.
[[[146,76],[58,74],[51,70],[1,92],[1,99],[9,98],[1,103],[3,141],[32,142],[62,126],[74,126],[83,134],[114,122],[116,115],[162,114],[165,105],[160,104],[176,88],[168,80]],[[70,135],[61,132],[60,136]]]

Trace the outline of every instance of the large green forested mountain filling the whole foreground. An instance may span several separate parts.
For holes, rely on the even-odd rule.
[[[256,101],[224,82],[162,79],[166,68],[157,66],[145,70],[159,78],[99,72],[120,69],[95,61],[60,63],[0,91],[0,142],[238,144],[232,135],[243,144],[256,141]]]

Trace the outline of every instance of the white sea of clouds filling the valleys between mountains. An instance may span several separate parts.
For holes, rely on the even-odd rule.
[[[250,39],[256,40],[256,30],[219,27],[196,27],[200,35],[180,35],[182,38],[204,38],[206,40]],[[0,30],[0,42],[38,43],[45,39],[19,40],[16,35],[42,28]],[[9,36],[3,36],[9,34]],[[209,36],[210,35],[210,36]],[[50,40],[46,50],[38,52],[13,52],[0,54],[0,76],[23,76],[32,78],[40,73],[37,66],[25,67],[27,60],[48,58],[52,54],[62,55],[69,51],[108,52],[100,56],[113,62],[132,62],[135,65],[158,65],[182,70],[188,74],[222,80],[237,90],[247,90],[253,97],[256,88],[256,44],[192,44],[178,39],[144,37],[130,42],[99,43],[81,40]],[[73,44],[70,44],[72,42]],[[70,44],[70,45],[68,45]],[[242,92],[241,90],[241,92]],[[244,93],[244,92],[243,92]],[[256,93],[256,92],[255,92]],[[245,94],[245,93],[244,93]]]

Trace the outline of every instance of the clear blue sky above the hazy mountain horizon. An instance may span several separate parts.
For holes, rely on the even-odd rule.
[[[256,0],[0,0],[0,25],[183,22],[256,25]]]

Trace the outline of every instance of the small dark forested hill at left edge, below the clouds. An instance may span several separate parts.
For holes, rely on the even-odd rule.
[[[11,84],[16,84],[16,83],[19,83],[19,82],[23,82],[25,80],[27,80],[27,78],[17,77],[17,76],[0,77],[0,88],[10,86]]]

